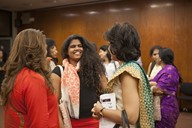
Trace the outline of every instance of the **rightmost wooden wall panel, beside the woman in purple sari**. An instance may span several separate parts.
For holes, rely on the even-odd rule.
[[[192,1],[175,3],[175,64],[184,81],[192,82]]]

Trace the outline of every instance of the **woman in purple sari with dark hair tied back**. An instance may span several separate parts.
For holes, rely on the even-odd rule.
[[[176,99],[181,77],[174,66],[174,53],[169,48],[159,51],[162,70],[150,82],[154,95],[161,97],[161,120],[155,121],[155,128],[175,128],[179,116],[179,106]]]

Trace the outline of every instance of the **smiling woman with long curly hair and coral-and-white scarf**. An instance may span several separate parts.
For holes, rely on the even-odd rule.
[[[52,72],[53,85],[61,98],[61,88],[67,90],[73,128],[98,128],[98,120],[92,118],[91,108],[98,100],[99,90],[107,79],[99,55],[84,37],[71,35],[61,48],[63,75],[57,66]],[[59,115],[62,120],[61,114]],[[61,127],[64,126],[60,121]]]

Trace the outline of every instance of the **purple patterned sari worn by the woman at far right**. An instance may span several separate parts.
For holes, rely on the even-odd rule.
[[[179,85],[179,72],[173,65],[166,65],[154,77],[157,87],[163,90],[161,98],[161,121],[155,122],[156,128],[175,128],[179,117],[179,105],[176,93]]]

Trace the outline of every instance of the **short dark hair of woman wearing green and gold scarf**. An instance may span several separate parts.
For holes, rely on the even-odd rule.
[[[129,23],[116,23],[104,35],[110,43],[110,51],[118,60],[138,60],[141,56],[140,38],[135,27]]]

